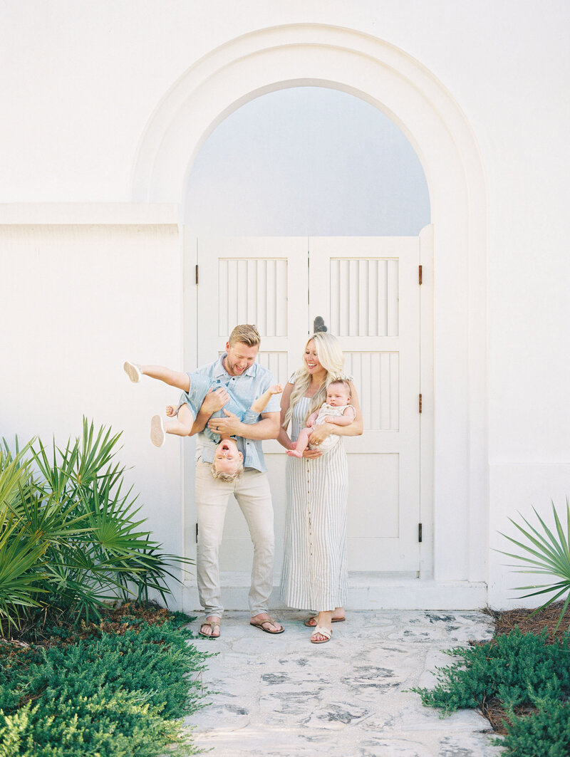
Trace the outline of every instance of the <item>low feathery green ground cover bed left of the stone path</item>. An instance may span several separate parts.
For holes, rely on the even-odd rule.
[[[209,655],[182,613],[126,605],[98,624],[0,644],[0,757],[195,754],[180,718],[204,705]]]

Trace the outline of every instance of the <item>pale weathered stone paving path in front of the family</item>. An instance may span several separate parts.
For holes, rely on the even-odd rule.
[[[286,631],[263,634],[245,612],[223,618],[204,684],[218,693],[192,716],[194,740],[220,757],[495,757],[488,722],[473,710],[440,718],[413,686],[435,683],[441,650],[490,638],[482,612],[359,611],[309,641],[307,615],[279,613]],[[198,621],[195,630],[198,631]]]

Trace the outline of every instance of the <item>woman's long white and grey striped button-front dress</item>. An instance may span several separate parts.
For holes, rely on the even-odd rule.
[[[302,397],[291,417],[291,440],[304,425],[310,399]],[[279,599],[315,612],[347,599],[347,456],[343,440],[315,459],[288,457],[287,516]]]

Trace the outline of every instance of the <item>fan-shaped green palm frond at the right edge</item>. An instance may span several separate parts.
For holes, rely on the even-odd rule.
[[[554,534],[553,531],[548,528],[544,520],[540,518],[537,510],[534,507],[533,509],[534,514],[537,516],[540,523],[540,530],[534,528],[534,526],[532,526],[523,516],[521,517],[527,528],[524,528],[512,518],[509,518],[512,525],[514,525],[515,528],[517,528],[528,540],[528,544],[500,532],[501,536],[508,539],[512,544],[515,544],[519,549],[523,550],[522,553],[509,553],[504,552],[503,550],[497,551],[503,555],[519,560],[519,563],[512,565],[512,567],[518,568],[516,571],[518,573],[538,573],[549,575],[551,577],[552,580],[548,581],[546,584],[531,584],[529,586],[515,587],[518,591],[528,589],[534,590],[528,594],[522,594],[522,596],[519,597],[520,599],[525,599],[526,597],[538,597],[549,593],[553,594],[553,596],[548,598],[535,612],[540,612],[540,610],[552,605],[556,600],[559,600],[560,597],[563,597],[565,593],[568,593],[564,605],[562,606],[562,612],[560,613],[558,623],[556,624],[556,630],[558,630],[560,622],[562,621],[566,609],[568,608],[568,604],[570,603],[570,503],[568,503],[568,498],[566,498],[565,531],[558,513],[556,512],[556,507],[554,506],[554,503],[552,503],[556,534]],[[522,569],[519,567],[520,563],[524,563],[530,567]]]

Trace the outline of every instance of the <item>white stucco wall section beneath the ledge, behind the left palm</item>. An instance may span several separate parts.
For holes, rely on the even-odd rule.
[[[83,416],[123,431],[127,488],[154,538],[181,554],[180,448],[149,442],[151,415],[179,393],[123,372],[126,357],[181,362],[176,224],[14,224],[0,238],[0,436],[61,446],[81,436]]]

